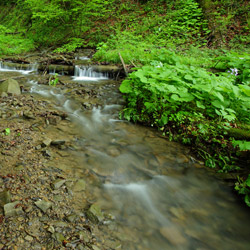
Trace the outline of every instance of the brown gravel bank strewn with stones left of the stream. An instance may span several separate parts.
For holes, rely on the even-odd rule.
[[[91,201],[83,210],[72,205],[85,180],[50,163],[60,165],[73,150],[74,133],[64,134],[72,127],[67,114],[22,87],[21,95],[0,97],[0,249],[115,249],[119,242],[98,236],[98,223],[110,215]]]

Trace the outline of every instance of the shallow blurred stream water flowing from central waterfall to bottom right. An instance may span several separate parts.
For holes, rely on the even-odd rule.
[[[117,82],[91,68],[76,69],[74,81],[79,77],[86,88],[101,89],[102,105],[83,110],[59,88],[29,85],[32,95],[53,100],[69,115],[74,147],[53,163],[86,179],[74,203],[79,210],[87,200],[115,218],[97,235],[122,242],[112,249],[250,249],[249,210],[230,189],[194,163],[187,148],[119,120]]]

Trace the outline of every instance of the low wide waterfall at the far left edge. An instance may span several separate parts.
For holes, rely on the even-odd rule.
[[[37,71],[37,64],[4,63],[0,61],[0,71],[16,71],[22,74],[29,74],[31,72]]]

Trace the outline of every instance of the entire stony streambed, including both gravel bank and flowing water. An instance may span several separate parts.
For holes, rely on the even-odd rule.
[[[0,249],[248,249],[230,188],[187,148],[119,120],[119,82],[83,72],[56,86],[0,72],[21,89],[0,97]]]

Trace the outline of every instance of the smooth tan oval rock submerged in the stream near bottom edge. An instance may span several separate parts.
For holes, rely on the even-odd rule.
[[[187,242],[181,232],[175,227],[162,227],[160,228],[160,233],[174,246],[183,245]]]

